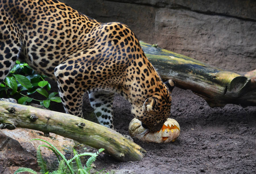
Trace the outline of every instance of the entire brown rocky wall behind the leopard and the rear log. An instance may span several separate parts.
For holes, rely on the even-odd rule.
[[[227,70],[256,68],[254,0],[61,0],[139,40]]]

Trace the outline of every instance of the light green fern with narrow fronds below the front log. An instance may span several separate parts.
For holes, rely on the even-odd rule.
[[[47,143],[49,145],[49,146],[44,145],[44,144],[39,145],[37,148],[37,153],[36,153],[38,166],[40,167],[40,173],[44,173],[44,174],[70,174],[70,173],[71,174],[90,174],[90,169],[92,169],[92,166],[91,166],[92,163],[96,160],[96,157],[98,156],[98,154],[100,152],[104,151],[104,149],[99,149],[99,151],[96,153],[84,152],[84,153],[78,154],[78,152],[75,149],[73,149],[74,157],[70,160],[67,160],[65,158],[65,156],[63,154],[61,154],[61,152],[56,147],[54,147],[51,143],[49,143],[48,141],[45,141],[42,139],[32,139],[32,140],[44,141],[45,143]],[[48,171],[47,162],[43,159],[41,150],[40,150],[40,147],[42,147],[42,146],[50,149],[57,156],[57,159],[59,162],[59,166],[58,166],[57,170],[55,170],[53,172]],[[89,155],[91,157],[87,160],[86,165],[82,166],[80,157],[85,156],[85,155]],[[61,158],[62,158],[62,160],[60,160]],[[37,174],[36,171],[34,171],[30,168],[26,168],[26,167],[19,168],[18,170],[15,171],[14,174],[20,173],[20,172],[30,172],[30,173]]]

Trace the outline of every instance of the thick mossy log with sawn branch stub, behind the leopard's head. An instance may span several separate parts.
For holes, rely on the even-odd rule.
[[[256,70],[226,71],[142,41],[140,44],[163,80],[172,79],[177,87],[192,90],[210,107],[256,106]]]

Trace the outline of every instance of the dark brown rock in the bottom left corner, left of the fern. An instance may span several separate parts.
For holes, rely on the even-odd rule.
[[[17,140],[0,132],[0,173],[12,174],[19,167],[30,167],[39,171],[32,152],[23,149]]]

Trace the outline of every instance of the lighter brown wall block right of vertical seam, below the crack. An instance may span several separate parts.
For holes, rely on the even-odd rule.
[[[255,69],[255,30],[256,22],[226,16],[168,8],[156,12],[160,47],[172,47],[171,51],[230,70]],[[241,61],[246,63],[241,65]]]

